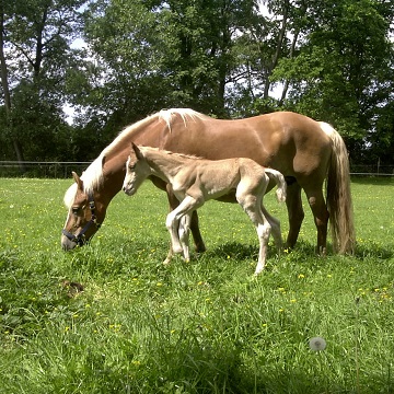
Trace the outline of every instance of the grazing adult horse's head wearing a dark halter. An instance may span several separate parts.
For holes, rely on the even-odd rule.
[[[84,245],[99,230],[105,217],[105,207],[94,200],[93,192],[85,192],[83,181],[73,172],[76,181],[66,194],[69,208],[61,235],[61,247],[70,251]]]

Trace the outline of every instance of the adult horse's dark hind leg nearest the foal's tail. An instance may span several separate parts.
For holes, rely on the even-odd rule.
[[[304,218],[301,200],[301,187],[296,179],[291,178],[287,186],[286,206],[289,216],[289,234],[286,246],[294,247]]]

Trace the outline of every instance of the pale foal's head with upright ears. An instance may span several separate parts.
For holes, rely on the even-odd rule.
[[[150,173],[149,165],[140,149],[131,142],[131,151],[126,162],[126,176],[123,185],[124,192],[129,196],[136,194]]]

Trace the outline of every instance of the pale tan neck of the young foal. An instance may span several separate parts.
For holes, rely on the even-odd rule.
[[[176,154],[169,154],[161,151],[152,151],[146,155],[152,175],[172,183],[172,179],[179,172],[179,167],[187,164],[187,158],[179,158]]]

